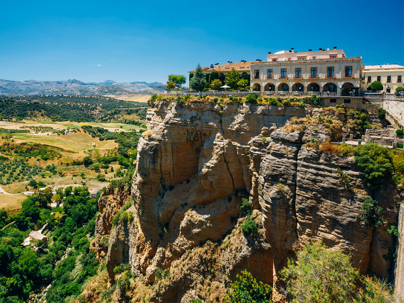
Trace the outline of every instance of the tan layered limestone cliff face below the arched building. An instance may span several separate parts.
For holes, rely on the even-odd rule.
[[[313,137],[325,140],[326,132],[280,129],[292,117],[318,114],[317,109],[300,107],[178,105],[166,100],[149,108],[131,188],[134,203],[128,211],[133,221],[116,227],[106,223],[112,209],[123,205],[111,207],[113,198],[102,200],[97,217],[99,235],[110,235],[110,278],[122,262],[130,263],[145,284],[155,281],[158,268],[170,269],[170,283],[154,288],[150,300],[187,302],[206,287],[211,289],[195,286],[197,275],[206,275],[200,264],[185,272],[178,269],[199,246],[214,256],[196,259],[210,264],[213,280],[220,284],[217,291],[246,268],[274,283],[275,299],[282,300],[278,272],[311,240],[350,252],[362,273],[388,277],[391,270],[383,255],[392,248],[391,236],[386,225],[367,228],[359,211],[363,199],[375,194],[386,209],[384,218],[395,223],[397,193],[393,187],[386,189],[390,194],[370,193],[353,158],[305,147]],[[352,190],[343,188],[337,168],[352,178]],[[262,235],[257,239],[237,232],[242,196],[249,197],[256,210]],[[230,238],[236,250],[229,251]],[[211,247],[210,241],[220,246]]]

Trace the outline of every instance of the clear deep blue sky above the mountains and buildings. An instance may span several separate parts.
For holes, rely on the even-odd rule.
[[[404,65],[403,7],[402,0],[4,1],[0,78],[165,82],[198,62],[265,60],[290,47],[337,46],[365,65]]]

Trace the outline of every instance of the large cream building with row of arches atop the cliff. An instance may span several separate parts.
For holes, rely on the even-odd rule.
[[[251,89],[263,94],[320,93],[358,95],[361,90],[362,57],[346,57],[343,49],[295,53],[268,53],[267,61],[252,62]]]

